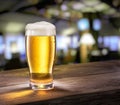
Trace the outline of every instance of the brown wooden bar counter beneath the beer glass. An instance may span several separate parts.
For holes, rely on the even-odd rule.
[[[28,68],[0,72],[0,105],[120,105],[120,61],[54,67],[55,88],[33,91]]]

